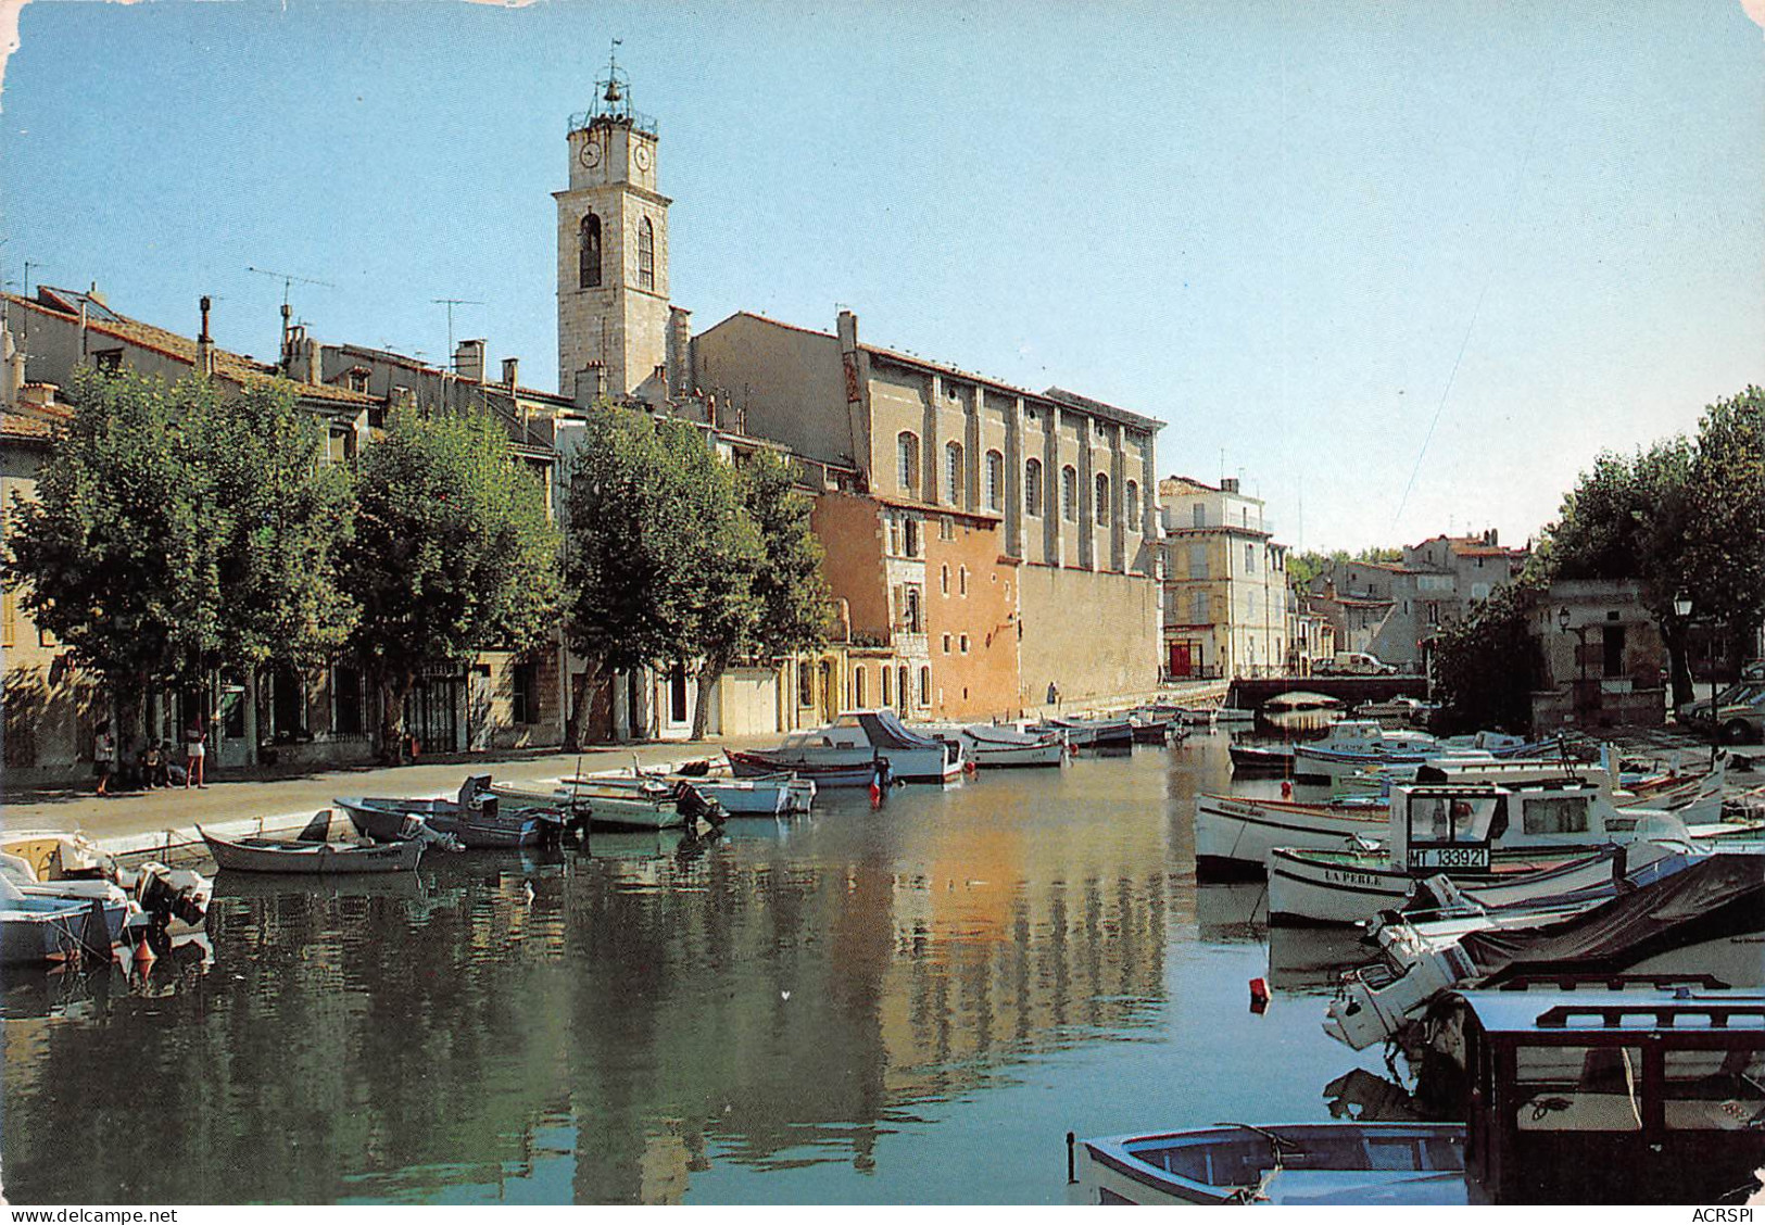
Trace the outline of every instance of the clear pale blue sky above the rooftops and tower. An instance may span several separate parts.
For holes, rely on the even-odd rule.
[[[431,298],[482,298],[455,334],[551,387],[551,192],[614,35],[697,328],[845,304],[867,341],[1163,418],[1160,471],[1223,450],[1288,544],[1523,540],[1601,448],[1765,383],[1739,0],[35,0],[5,277],[185,332],[212,293],[259,357],[282,288],[247,265],[334,282],[295,286],[321,339],[432,360]]]

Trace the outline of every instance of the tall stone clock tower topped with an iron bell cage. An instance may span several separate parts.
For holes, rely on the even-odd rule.
[[[667,196],[657,129],[630,108],[618,64],[593,111],[570,118],[558,201],[558,392],[660,397],[667,344]],[[648,383],[648,387],[646,387]]]

